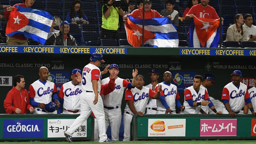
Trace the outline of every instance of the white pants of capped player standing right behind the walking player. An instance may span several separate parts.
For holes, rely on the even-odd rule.
[[[110,125],[112,140],[119,141],[119,129],[121,126],[121,119],[122,119],[121,107],[117,109],[111,109],[111,110],[104,108],[104,111],[105,111],[106,129],[108,129]]]

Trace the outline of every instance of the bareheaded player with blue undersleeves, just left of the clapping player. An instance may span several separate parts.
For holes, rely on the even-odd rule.
[[[185,107],[181,105],[179,101],[179,92],[177,86],[171,84],[173,79],[172,73],[166,71],[164,73],[164,82],[160,83],[162,86],[161,96],[159,100],[156,100],[157,111],[156,114],[176,114],[177,106],[181,111],[184,111]],[[157,86],[155,91],[157,90]]]

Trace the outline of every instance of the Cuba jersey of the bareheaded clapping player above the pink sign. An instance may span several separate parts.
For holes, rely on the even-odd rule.
[[[193,86],[190,86],[185,89],[184,91],[184,112],[189,114],[198,114],[201,108],[200,106],[190,106],[187,102],[188,99],[192,99],[193,102],[203,102],[204,100],[208,99],[208,93],[205,88],[200,87],[198,93],[195,91]]]

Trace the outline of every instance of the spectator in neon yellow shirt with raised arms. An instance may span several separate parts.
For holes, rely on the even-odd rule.
[[[124,16],[120,5],[121,0],[110,0],[102,6],[102,27],[97,45],[100,45],[100,39],[118,39],[119,15]]]

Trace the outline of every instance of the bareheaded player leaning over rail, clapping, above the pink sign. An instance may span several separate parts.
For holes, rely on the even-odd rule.
[[[205,88],[200,87],[203,77],[201,75],[195,75],[193,80],[193,86],[190,86],[184,91],[184,106],[186,109],[181,112],[182,114],[198,114],[199,111],[204,113],[201,109],[202,106],[208,106],[214,113],[222,114],[221,111],[215,109],[211,102],[208,93]]]

